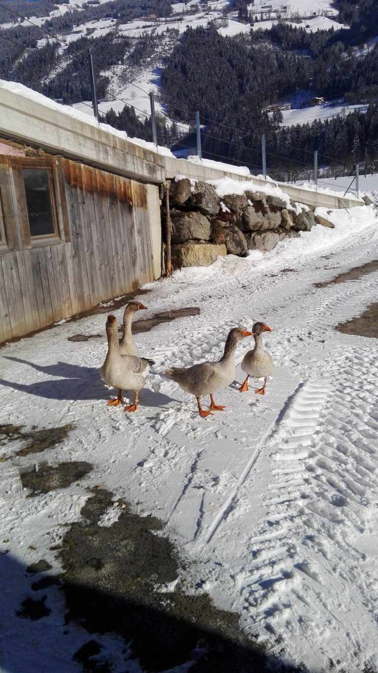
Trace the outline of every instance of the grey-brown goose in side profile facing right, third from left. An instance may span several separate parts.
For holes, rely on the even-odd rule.
[[[166,369],[170,376],[185,392],[190,392],[197,398],[199,415],[202,418],[212,415],[212,411],[223,411],[224,406],[215,404],[214,392],[229,386],[235,378],[234,350],[239,339],[251,336],[243,327],[234,327],[228,333],[224,353],[217,362],[201,362],[192,367],[172,367]],[[201,396],[210,395],[210,411],[201,409]]]

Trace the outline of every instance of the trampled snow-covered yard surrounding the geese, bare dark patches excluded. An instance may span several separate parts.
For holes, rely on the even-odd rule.
[[[378,343],[333,327],[376,301],[378,272],[313,283],[376,258],[378,221],[371,207],[328,217],[335,229],[318,225],[269,254],[218,258],[146,287],[141,300],[150,311],[198,306],[200,314],[135,336],[156,361],[135,414],[106,405],[115,391],[98,375],[105,336],[67,341],[104,334],[106,314],[0,350],[0,423],[75,424],[64,444],[38,456],[1,447],[0,548],[13,569],[10,579],[0,577],[2,670],[79,670],[71,657],[88,633],[71,624],[63,635],[57,590],[39,621],[20,620],[15,610],[36,596],[25,566],[43,558],[59,569],[51,546],[80,517],[86,488],[98,484],[166,522],[164,534],[189,561],[179,583],[201,578],[216,605],[239,612],[241,627],[284,662],[311,672],[377,668]],[[120,319],[123,308],[115,313]],[[245,339],[234,384],[216,395],[226,409],[201,419],[195,399],[164,369],[217,359],[228,330],[256,320],[273,329],[265,346],[276,370],[265,396],[255,395],[253,382],[249,392],[237,390],[252,343]],[[62,460],[88,460],[94,470],[80,485],[28,497],[19,470]]]

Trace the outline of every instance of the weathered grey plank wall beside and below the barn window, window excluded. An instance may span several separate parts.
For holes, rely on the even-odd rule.
[[[69,240],[0,254],[0,343],[154,280],[146,185],[67,159],[60,168]]]

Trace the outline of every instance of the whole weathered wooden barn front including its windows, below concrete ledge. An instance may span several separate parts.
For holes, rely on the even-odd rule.
[[[158,186],[0,137],[0,343],[161,273]]]

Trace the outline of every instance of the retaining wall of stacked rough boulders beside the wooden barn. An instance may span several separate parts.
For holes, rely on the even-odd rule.
[[[212,264],[218,255],[245,256],[247,250],[269,252],[279,241],[309,232],[316,223],[334,225],[307,205],[258,191],[222,199],[206,182],[183,178],[170,183],[172,265]]]

